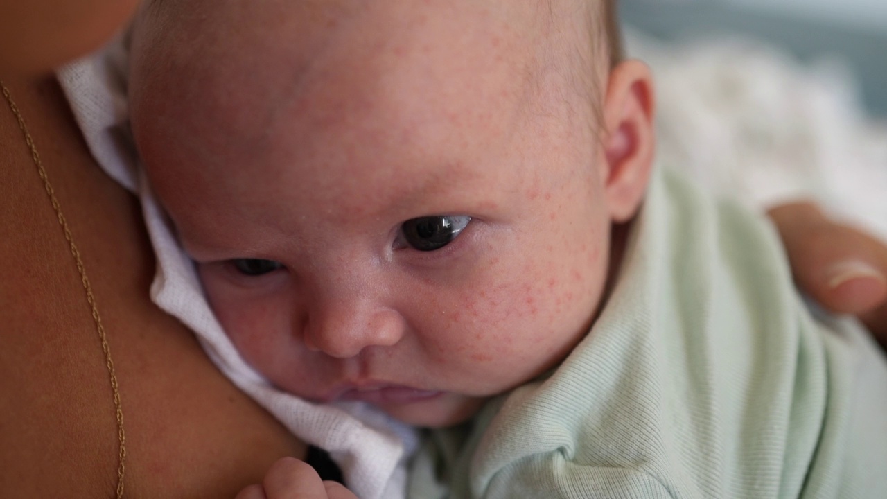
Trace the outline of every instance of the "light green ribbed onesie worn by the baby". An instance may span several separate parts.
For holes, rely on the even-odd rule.
[[[887,498],[887,363],[813,318],[765,220],[663,170],[588,336],[430,432],[408,495]]]

